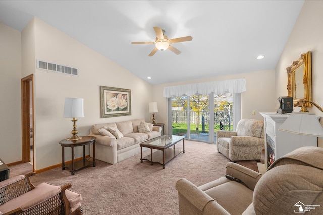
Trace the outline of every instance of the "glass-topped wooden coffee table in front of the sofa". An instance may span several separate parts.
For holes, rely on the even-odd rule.
[[[150,161],[150,165],[153,165],[154,162],[158,162],[159,164],[163,165],[163,169],[165,169],[165,164],[167,162],[175,158],[181,152],[185,153],[184,138],[184,136],[163,135],[142,142],[140,144],[140,162],[142,163],[143,160],[148,160]],[[175,149],[175,144],[181,140],[183,140],[183,149]],[[173,148],[170,148],[171,146],[173,146]],[[142,147],[150,148],[150,155],[143,158]],[[157,149],[158,151],[152,153],[153,149]]]

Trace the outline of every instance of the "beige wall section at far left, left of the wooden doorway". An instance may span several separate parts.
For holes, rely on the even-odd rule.
[[[0,158],[21,160],[21,36],[0,23]]]

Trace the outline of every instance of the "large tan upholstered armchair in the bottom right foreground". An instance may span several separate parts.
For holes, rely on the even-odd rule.
[[[199,187],[176,182],[180,215],[323,214],[323,148],[301,147],[277,159],[261,175],[229,162],[226,177]],[[310,211],[309,211],[310,210]]]

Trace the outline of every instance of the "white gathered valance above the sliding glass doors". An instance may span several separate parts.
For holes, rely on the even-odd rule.
[[[164,87],[163,96],[170,98],[172,96],[207,95],[210,93],[242,93],[246,90],[246,79],[231,79]]]

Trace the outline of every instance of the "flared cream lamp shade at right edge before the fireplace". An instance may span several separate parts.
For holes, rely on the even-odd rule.
[[[314,113],[292,112],[280,126],[280,131],[323,137],[323,128]]]

